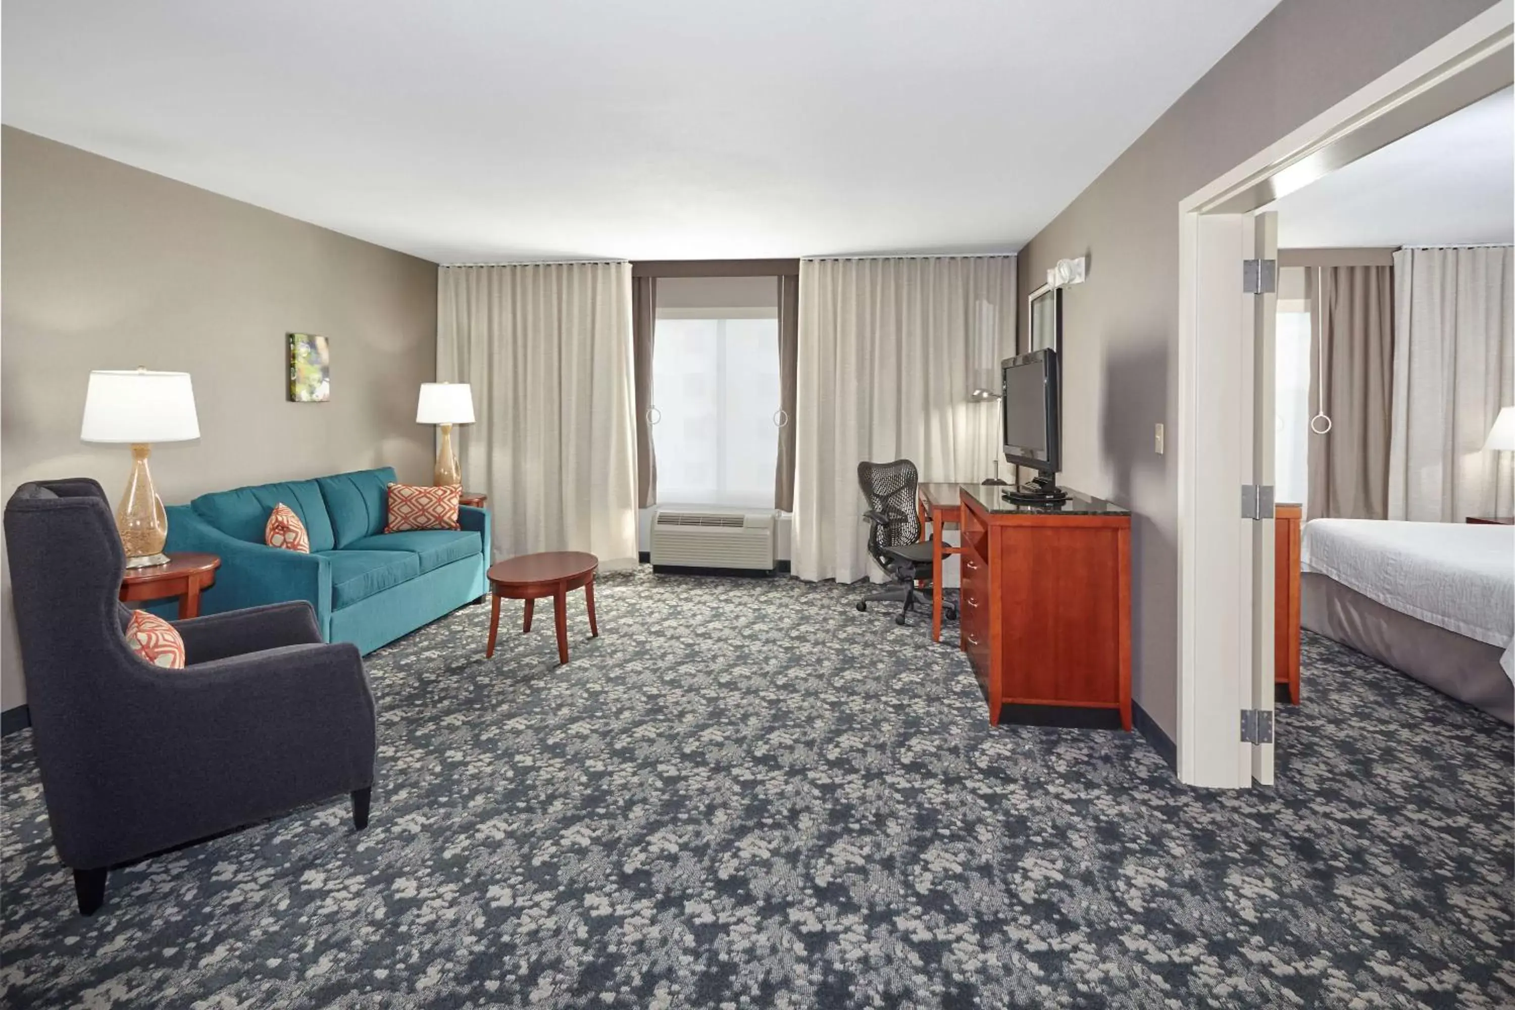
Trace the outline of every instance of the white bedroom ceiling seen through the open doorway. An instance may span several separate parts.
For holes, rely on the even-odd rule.
[[[1283,248],[1515,242],[1506,88],[1277,200]]]

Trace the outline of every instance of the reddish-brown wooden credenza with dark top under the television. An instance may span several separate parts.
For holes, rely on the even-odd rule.
[[[989,703],[1112,709],[1132,728],[1130,512],[962,489],[962,648]]]

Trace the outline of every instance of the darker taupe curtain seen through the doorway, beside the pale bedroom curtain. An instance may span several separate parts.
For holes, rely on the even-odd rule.
[[[1309,518],[1388,518],[1394,270],[1310,271]],[[1324,392],[1324,397],[1321,395]]]

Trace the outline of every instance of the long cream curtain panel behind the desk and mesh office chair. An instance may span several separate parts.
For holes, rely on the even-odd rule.
[[[794,571],[882,580],[857,463],[911,459],[923,482],[979,482],[1001,456],[998,388],[1015,348],[1014,256],[800,260]]]

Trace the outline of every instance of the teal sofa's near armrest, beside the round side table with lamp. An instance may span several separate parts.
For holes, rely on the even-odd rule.
[[[227,536],[189,506],[168,509],[168,551],[205,551],[221,559],[215,584],[200,595],[203,613],[305,600],[324,633],[332,615],[332,562],[318,554],[248,544]]]

